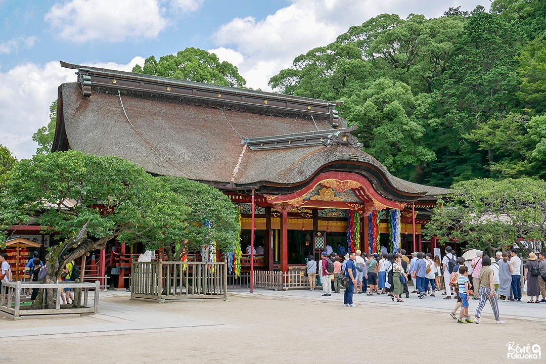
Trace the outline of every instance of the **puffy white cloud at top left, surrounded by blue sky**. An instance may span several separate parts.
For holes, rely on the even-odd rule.
[[[155,38],[173,21],[165,16],[162,0],[70,0],[51,7],[44,19],[61,38],[84,43],[88,40],[123,41]],[[171,8],[182,13],[198,10],[203,0],[171,0]]]

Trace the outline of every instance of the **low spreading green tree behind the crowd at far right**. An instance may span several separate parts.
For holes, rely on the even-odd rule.
[[[532,178],[477,179],[455,183],[447,202],[438,205],[425,236],[468,242],[489,256],[506,247],[530,252],[519,240],[546,238],[546,182]]]

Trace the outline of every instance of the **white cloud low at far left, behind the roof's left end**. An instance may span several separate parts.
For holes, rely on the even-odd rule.
[[[143,62],[143,57],[135,57],[127,64],[86,64],[130,71],[136,63]],[[48,124],[49,106],[57,98],[57,87],[75,81],[74,70],[62,68],[57,61],[43,67],[23,63],[0,73],[0,144],[19,159],[32,157],[38,146],[32,134]]]

